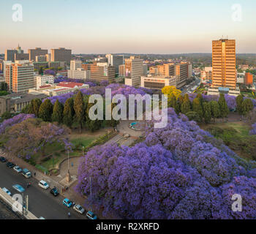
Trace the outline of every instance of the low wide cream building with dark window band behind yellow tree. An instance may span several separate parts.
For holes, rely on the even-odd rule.
[[[166,77],[163,75],[157,76],[142,76],[140,78],[140,87],[162,90],[165,86],[176,86],[176,77]]]

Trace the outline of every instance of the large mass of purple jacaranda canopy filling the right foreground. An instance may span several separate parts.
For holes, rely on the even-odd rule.
[[[126,219],[255,218],[255,162],[240,159],[173,108],[167,127],[153,126],[147,122],[144,143],[97,146],[81,159],[76,189],[87,203]],[[239,214],[232,211],[236,193],[244,200]]]

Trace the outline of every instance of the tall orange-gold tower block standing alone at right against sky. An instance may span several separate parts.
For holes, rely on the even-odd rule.
[[[236,40],[212,42],[212,84],[214,88],[236,88]]]

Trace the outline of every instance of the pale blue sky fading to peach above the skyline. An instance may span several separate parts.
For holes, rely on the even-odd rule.
[[[236,39],[237,53],[256,53],[255,9],[255,0],[1,0],[0,53],[18,43],[25,53],[211,53],[222,36]]]

